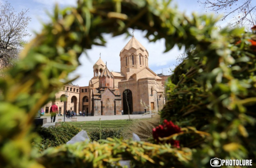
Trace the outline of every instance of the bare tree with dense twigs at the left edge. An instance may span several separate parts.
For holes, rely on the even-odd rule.
[[[24,37],[31,36],[27,26],[31,18],[27,10],[17,13],[10,3],[0,3],[0,69],[11,66],[24,45]]]

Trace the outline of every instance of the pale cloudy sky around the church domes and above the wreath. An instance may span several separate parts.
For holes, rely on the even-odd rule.
[[[198,0],[172,0],[172,6],[177,5],[178,9],[185,12],[188,16],[193,12],[205,13],[204,6],[200,6],[197,3]],[[4,3],[5,0],[0,0]],[[48,23],[49,16],[47,11],[52,13],[54,4],[58,3],[60,8],[65,6],[76,6],[77,0],[7,0],[13,8],[18,12],[23,9],[29,9],[27,16],[31,17],[31,22],[28,26],[28,32],[32,34],[26,40],[30,41],[35,37],[34,32],[40,32],[42,29],[41,23]],[[207,12],[209,13],[209,11]],[[226,25],[227,21],[220,23],[222,26]],[[130,29],[132,32],[132,29]],[[183,53],[184,50],[179,50],[178,47],[174,47],[171,51],[164,53],[165,41],[163,39],[157,42],[149,43],[144,37],[146,32],[140,30],[134,31],[135,38],[148,50],[148,66],[156,74],[163,73],[165,75],[170,74],[170,68],[174,68],[176,57]],[[111,35],[105,35],[107,40],[106,46],[93,46],[91,50],[87,50],[88,57],[82,54],[79,58],[81,65],[69,75],[69,78],[74,78],[77,75],[80,77],[72,83],[79,86],[88,86],[89,80],[93,77],[93,65],[99,59],[101,53],[101,59],[108,62],[108,69],[110,71],[120,72],[120,57],[119,53],[121,49],[128,43],[131,37],[125,38],[125,35],[111,37]]]

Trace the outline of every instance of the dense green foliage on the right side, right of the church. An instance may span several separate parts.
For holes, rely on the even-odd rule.
[[[212,44],[205,49],[195,45],[189,60],[175,68],[161,113],[162,119],[211,134],[205,140],[190,134],[179,137],[184,146],[197,149],[191,165],[199,167],[214,157],[256,158],[256,52],[250,40],[255,34],[222,29],[218,36],[221,39],[205,36]]]

